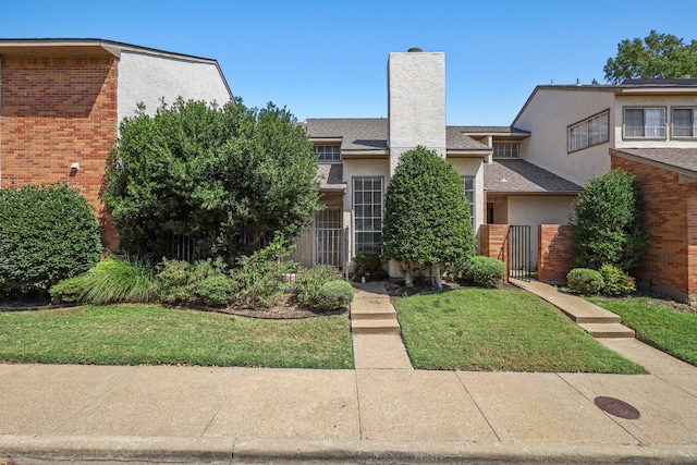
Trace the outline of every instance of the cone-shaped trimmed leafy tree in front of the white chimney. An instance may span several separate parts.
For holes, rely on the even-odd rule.
[[[404,152],[388,184],[382,246],[402,262],[412,286],[416,265],[431,268],[440,287],[441,267],[462,266],[475,254],[475,235],[460,175],[433,150]]]

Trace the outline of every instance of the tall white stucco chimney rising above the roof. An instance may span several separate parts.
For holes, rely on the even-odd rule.
[[[388,60],[390,173],[418,145],[445,156],[445,53],[390,53]]]

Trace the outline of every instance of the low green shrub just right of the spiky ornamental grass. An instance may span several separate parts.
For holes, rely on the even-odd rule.
[[[157,279],[159,299],[166,304],[219,306],[230,303],[234,295],[222,259],[193,264],[163,259]]]

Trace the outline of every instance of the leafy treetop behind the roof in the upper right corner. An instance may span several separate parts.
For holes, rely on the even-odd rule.
[[[656,30],[643,40],[624,39],[603,71],[606,81],[612,84],[631,78],[697,76],[697,40],[684,44],[682,38]]]

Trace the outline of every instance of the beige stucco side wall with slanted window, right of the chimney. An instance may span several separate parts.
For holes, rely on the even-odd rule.
[[[578,185],[610,169],[609,149],[613,144],[612,111],[614,93],[588,87],[538,88],[515,126],[530,131],[521,143],[521,157]],[[567,127],[604,110],[610,110],[610,140],[568,152]]]

